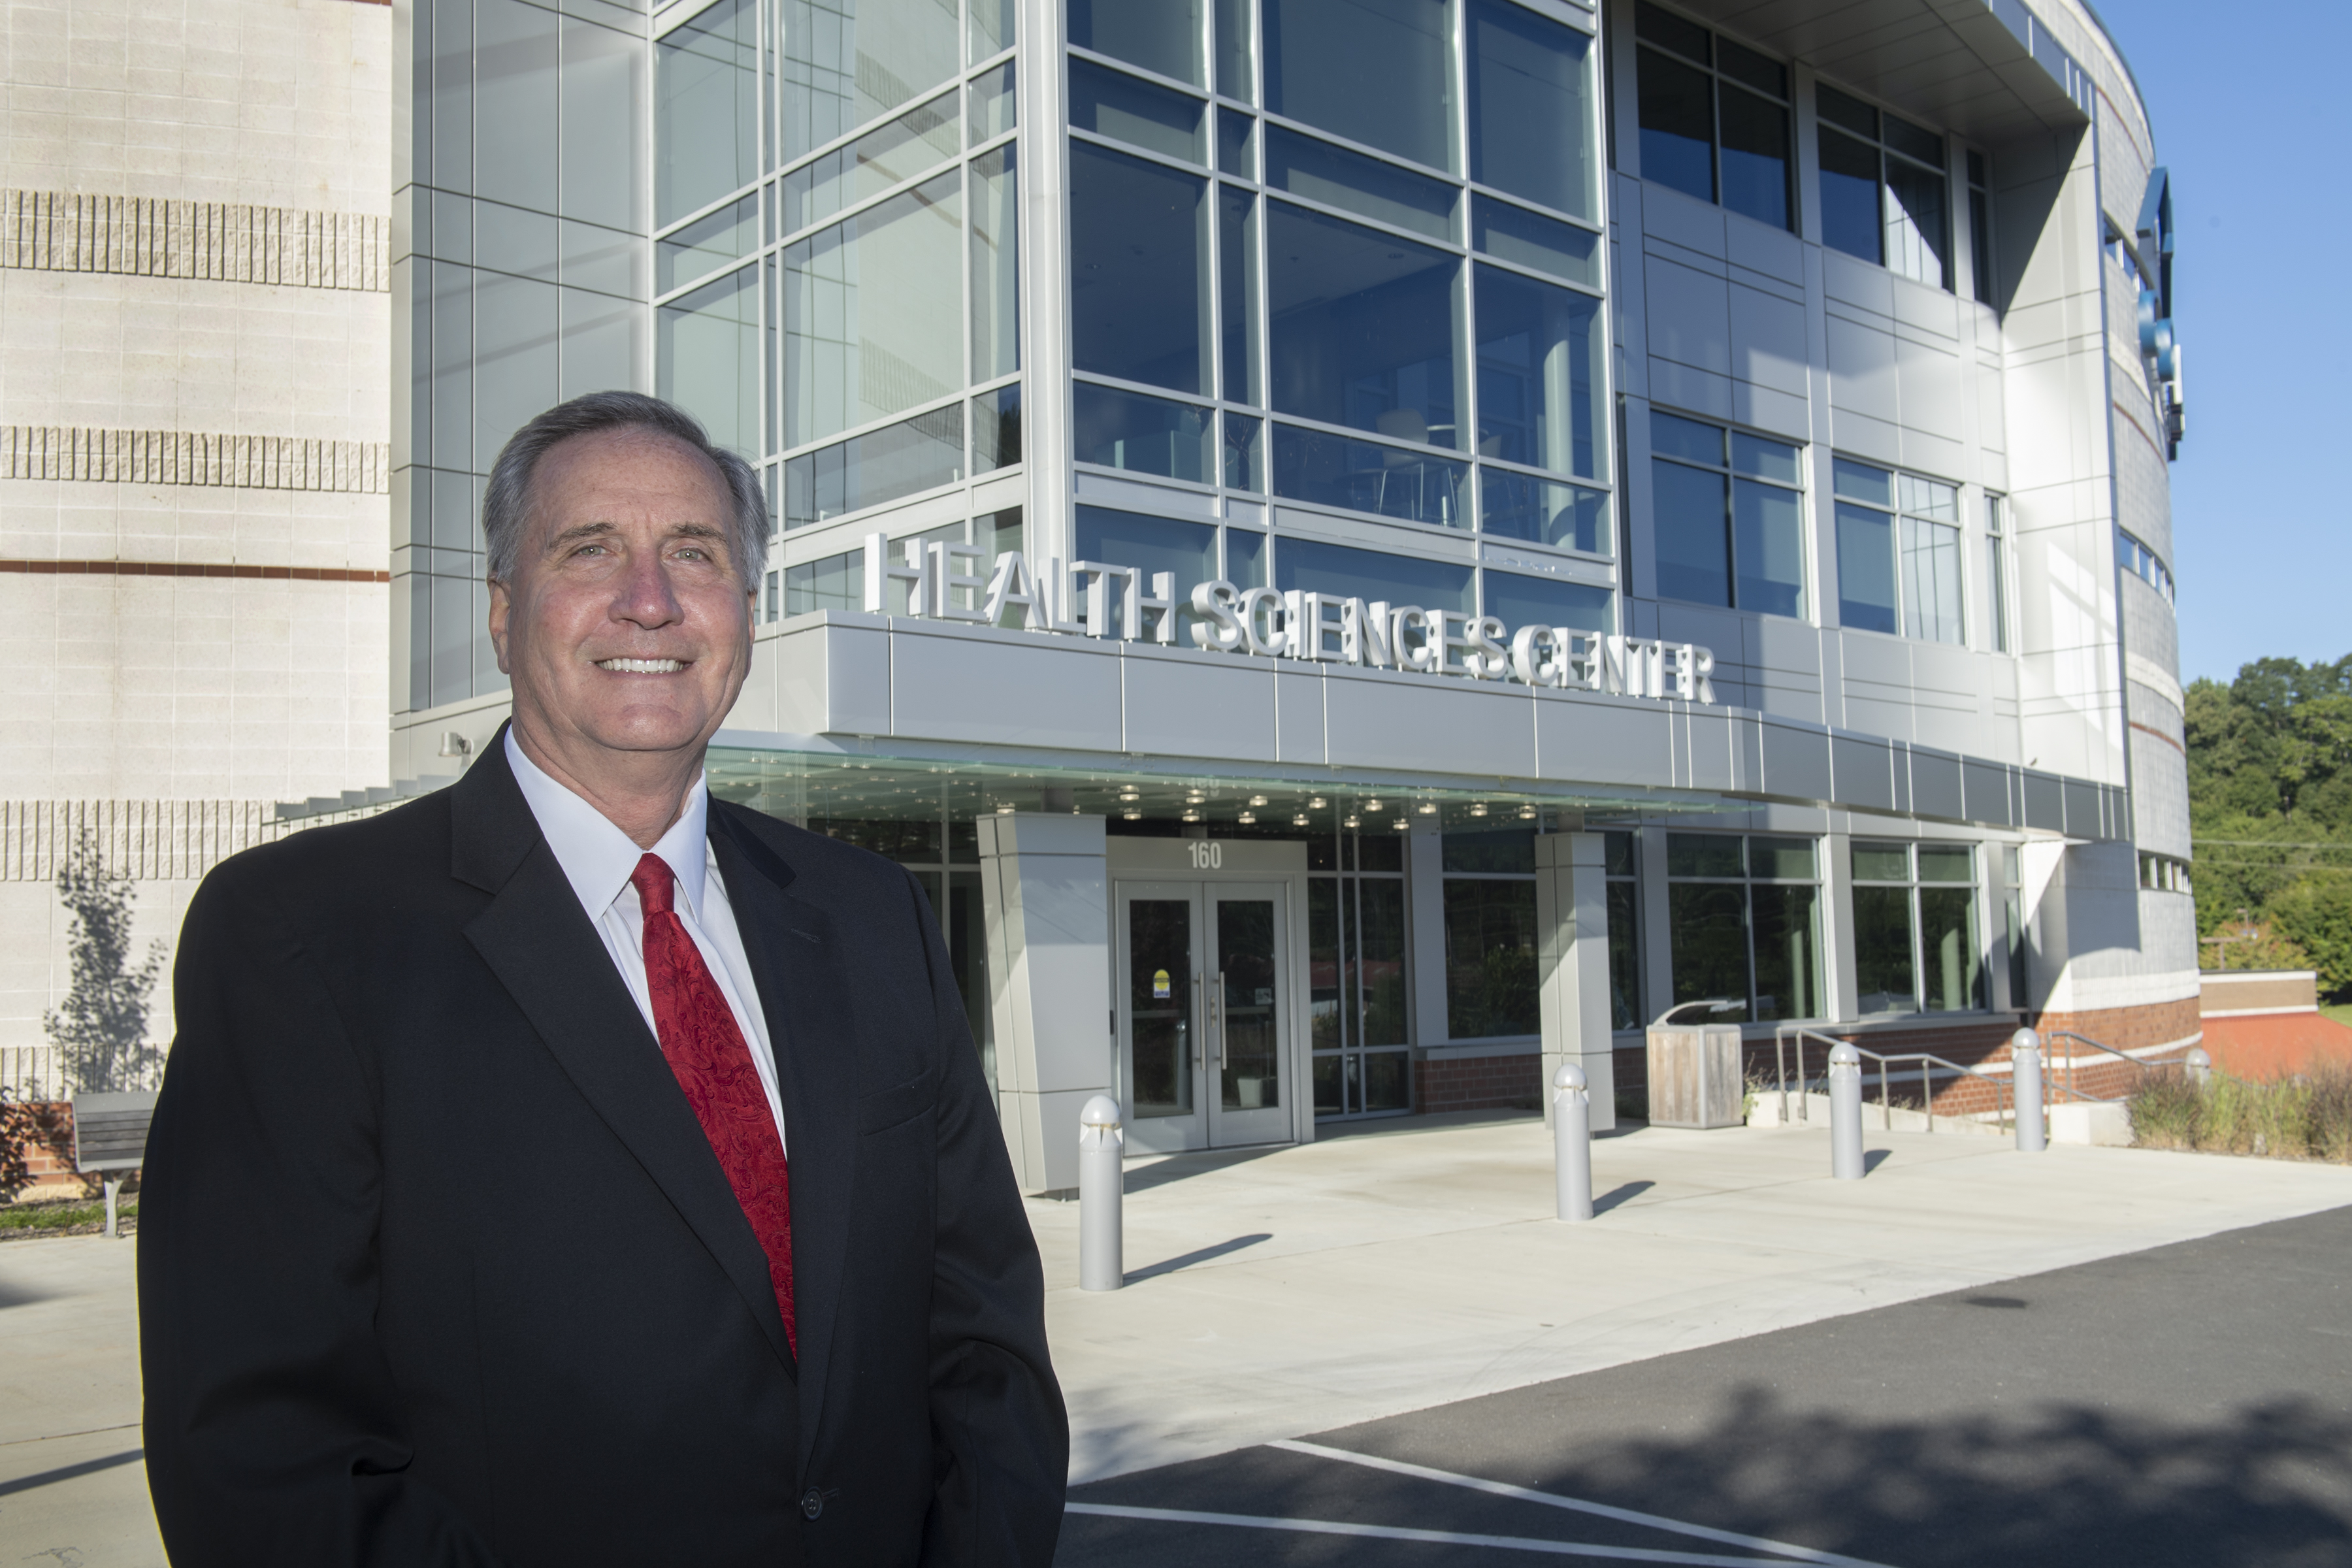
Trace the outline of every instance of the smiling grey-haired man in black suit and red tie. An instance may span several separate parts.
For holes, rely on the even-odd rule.
[[[917,882],[703,788],[767,510],[652,397],[485,501],[513,724],[214,870],[139,1239],[176,1563],[1035,1563],[1044,1284]]]

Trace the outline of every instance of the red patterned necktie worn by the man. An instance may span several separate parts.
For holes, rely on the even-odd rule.
[[[743,1218],[767,1251],[767,1276],[776,1284],[783,1335],[793,1333],[793,1182],[783,1166],[783,1140],[767,1105],[760,1070],[736,1027],[727,994],[710,978],[701,950],[677,919],[677,877],[661,856],[644,856],[630,875],[644,905],[644,987],[654,997],[654,1034],[677,1086],[687,1091],[694,1119],[727,1171]]]

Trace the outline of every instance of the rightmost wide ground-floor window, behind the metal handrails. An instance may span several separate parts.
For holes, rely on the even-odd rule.
[[[1973,846],[1853,839],[1853,987],[1863,1013],[1985,1006]]]

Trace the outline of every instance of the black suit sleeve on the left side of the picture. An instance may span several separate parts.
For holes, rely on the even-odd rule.
[[[261,860],[205,879],[172,973],[139,1234],[155,1519],[179,1568],[489,1568],[405,1476],[374,1335],[376,1095]]]

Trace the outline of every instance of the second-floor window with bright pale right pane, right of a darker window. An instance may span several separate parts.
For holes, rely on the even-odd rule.
[[[1851,458],[1832,458],[1832,470],[1839,623],[1966,642],[1959,489]]]

